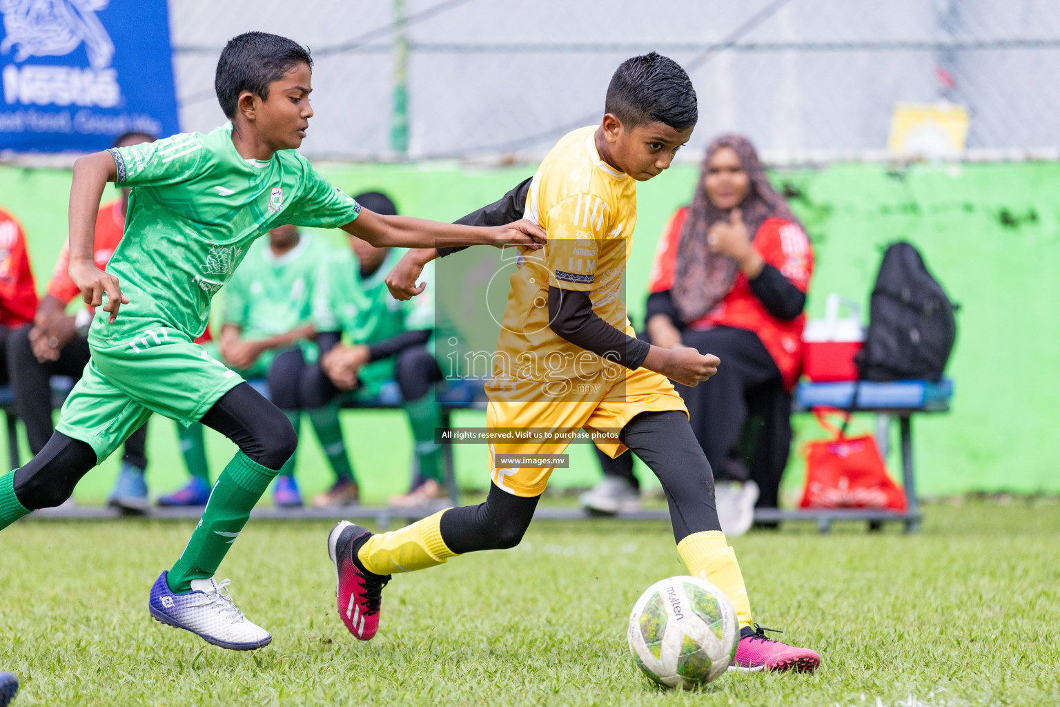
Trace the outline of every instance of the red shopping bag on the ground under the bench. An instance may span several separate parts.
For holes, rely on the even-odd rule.
[[[905,510],[905,493],[887,475],[871,435],[847,437],[826,417],[848,414],[834,408],[814,408],[820,426],[835,435],[806,445],[806,487],[799,508],[882,508]]]

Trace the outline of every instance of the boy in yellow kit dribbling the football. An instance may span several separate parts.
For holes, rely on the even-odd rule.
[[[621,301],[636,182],[670,166],[696,118],[685,71],[654,52],[637,56],[612,77],[601,124],[568,134],[542,162],[524,215],[548,232],[548,242],[537,252],[524,250],[511,276],[487,386],[487,424],[498,436],[585,429],[612,457],[632,449],[662,483],[689,573],[721,588],[737,609],[741,639],[734,668],[812,671],[819,665],[814,651],[752,628],[740,566],[718,522],[710,465],[667,379],[694,386],[717,372],[719,359],[638,340]],[[422,291],[416,285],[422,265],[441,254],[447,252],[410,251],[388,278],[391,291],[402,299]],[[384,534],[347,522],[335,526],[329,552],[347,629],[361,640],[375,634],[382,588],[393,573],[518,544],[552,471],[547,460],[527,457],[566,446],[554,437],[491,444],[493,483],[479,506],[447,509]]]

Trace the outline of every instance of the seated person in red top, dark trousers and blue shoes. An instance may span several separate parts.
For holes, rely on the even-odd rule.
[[[113,146],[136,145],[153,142],[154,139],[143,132],[126,132],[114,140]],[[95,219],[93,258],[101,269],[106,267],[122,240],[128,199],[129,190],[123,189],[117,200],[100,207]],[[66,312],[67,305],[81,296],[81,289],[73,284],[67,272],[69,266],[70,249],[68,244],[64,244],[52,281],[48,285],[48,294],[31,315],[32,325],[13,332],[6,346],[8,366],[13,371],[15,409],[25,425],[30,450],[34,455],[40,453],[53,431],[49,379],[53,375],[80,379],[90,357],[88,324],[92,319],[91,308],[82,316],[83,326],[80,330],[76,318]],[[36,305],[36,297],[32,302]],[[144,481],[144,469],[147,466],[146,440],[147,425],[144,424],[125,441],[122,467],[108,496],[108,505],[132,513],[142,513],[147,509],[147,484]]]

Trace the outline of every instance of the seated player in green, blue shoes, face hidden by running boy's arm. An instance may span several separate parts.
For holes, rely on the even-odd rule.
[[[246,257],[225,286],[224,319],[219,347],[210,347],[225,364],[247,381],[270,377],[279,357],[298,352],[300,357],[317,359],[313,343],[312,302],[321,269],[332,260],[326,243],[301,233],[297,226],[280,226],[269,231],[268,242],[250,246]],[[284,411],[297,431],[301,427],[301,407],[285,394],[289,386],[271,388],[272,402]],[[338,407],[311,410],[310,421],[320,440],[348,502],[357,499],[357,484],[342,443]],[[283,465],[272,489],[272,500],[281,508],[302,506],[294,476],[295,456]],[[167,505],[206,492],[209,479],[196,478],[171,498]]]

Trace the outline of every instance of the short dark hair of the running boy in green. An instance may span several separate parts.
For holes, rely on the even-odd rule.
[[[213,79],[220,109],[229,119],[234,118],[243,91],[268,101],[268,85],[283,78],[296,64],[313,68],[310,50],[297,41],[267,32],[246,32],[232,37],[220,52]]]

